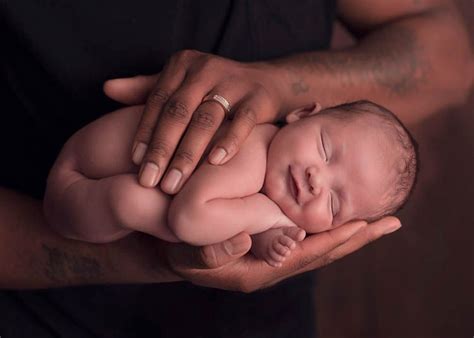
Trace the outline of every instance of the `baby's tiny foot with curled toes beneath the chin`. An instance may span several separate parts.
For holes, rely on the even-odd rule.
[[[252,235],[252,252],[269,265],[280,267],[291,251],[296,248],[296,242],[302,241],[305,236],[306,232],[298,227],[268,229]]]

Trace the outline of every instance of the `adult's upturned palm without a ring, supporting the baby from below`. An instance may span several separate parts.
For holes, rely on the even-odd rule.
[[[245,233],[202,248],[166,243],[164,252],[170,269],[185,280],[248,293],[328,265],[400,226],[397,218],[389,216],[370,224],[351,222],[311,235],[297,244],[280,268],[271,267],[253,255],[244,255],[251,246],[250,236]]]

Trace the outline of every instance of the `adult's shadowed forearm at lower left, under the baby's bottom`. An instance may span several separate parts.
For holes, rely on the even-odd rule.
[[[158,240],[139,233],[100,245],[65,239],[46,224],[41,201],[0,188],[0,288],[178,279]]]

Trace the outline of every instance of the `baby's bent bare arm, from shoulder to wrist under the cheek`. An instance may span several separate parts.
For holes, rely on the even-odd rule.
[[[257,126],[232,160],[221,166],[203,163],[174,198],[169,226],[181,240],[207,245],[239,232],[263,232],[295,226],[278,205],[258,191],[266,169],[272,126]]]

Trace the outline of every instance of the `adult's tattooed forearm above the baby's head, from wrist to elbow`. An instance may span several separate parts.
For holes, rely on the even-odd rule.
[[[288,112],[369,99],[413,124],[461,102],[472,82],[467,32],[455,9],[409,16],[373,29],[353,47],[270,61]]]

